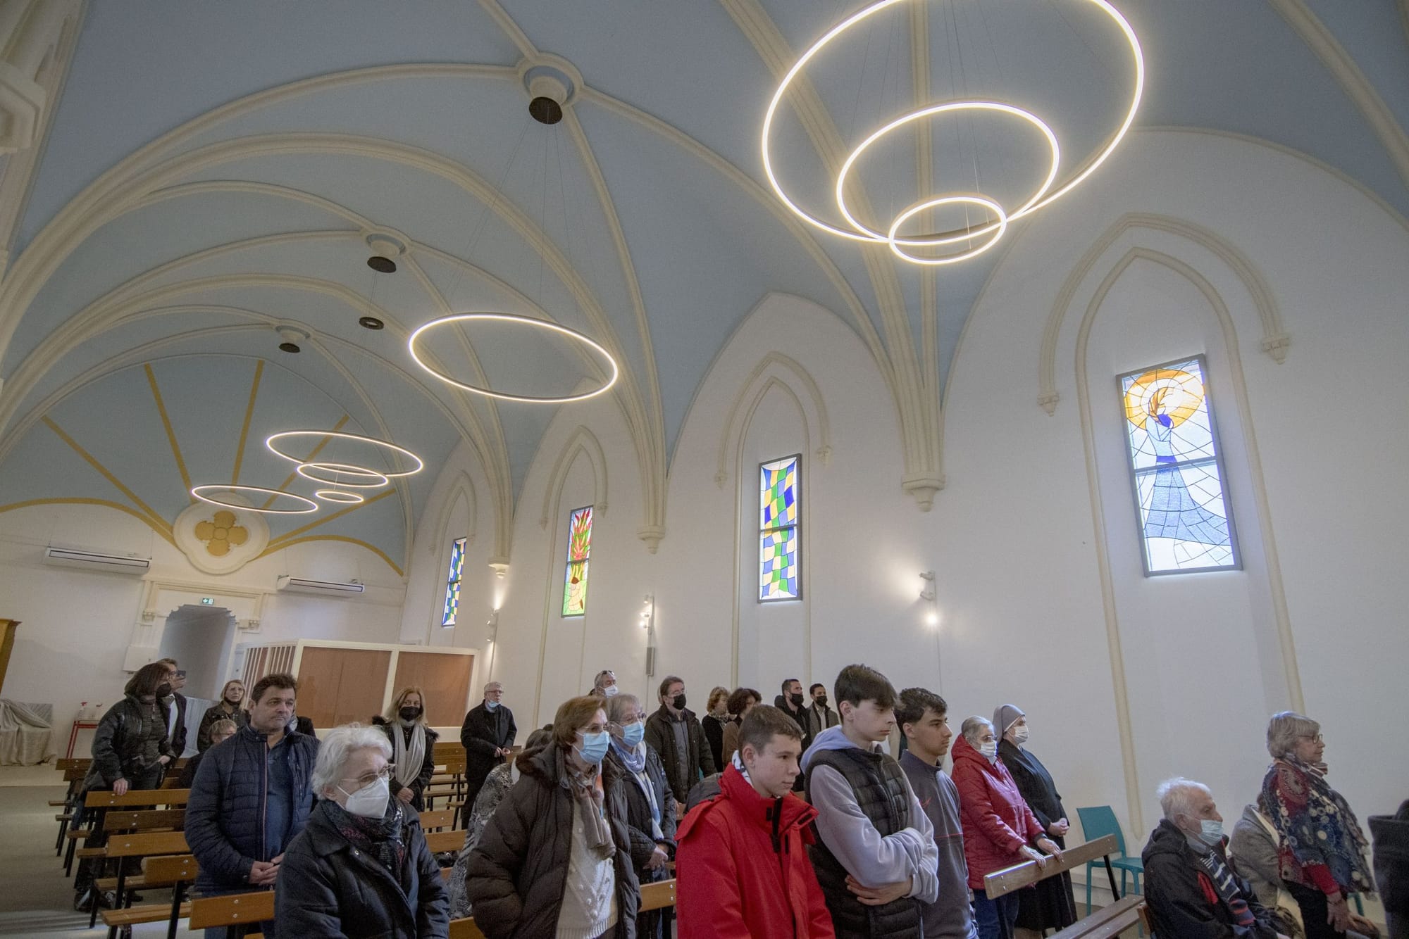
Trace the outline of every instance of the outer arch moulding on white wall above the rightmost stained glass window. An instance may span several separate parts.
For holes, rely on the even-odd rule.
[[[1278,308],[1277,297],[1274,296],[1271,286],[1267,283],[1267,279],[1257,269],[1257,266],[1253,265],[1247,255],[1239,251],[1233,242],[1227,241],[1222,235],[1202,225],[1196,225],[1195,222],[1153,213],[1130,213],[1117,218],[1115,224],[1112,224],[1110,228],[1107,228],[1106,232],[1091,245],[1086,253],[1081,256],[1076,265],[1071,269],[1071,273],[1068,273],[1067,279],[1062,282],[1061,290],[1057,293],[1057,300],[1053,303],[1051,313],[1047,315],[1047,327],[1043,332],[1043,345],[1037,363],[1037,404],[1041,405],[1047,414],[1057,412],[1057,401],[1060,400],[1055,379],[1057,344],[1061,336],[1062,321],[1067,317],[1067,310],[1071,307],[1082,284],[1089,283],[1091,272],[1100,262],[1102,256],[1105,256],[1127,232],[1138,229],[1169,234],[1198,245],[1199,248],[1203,248],[1215,255],[1227,267],[1227,270],[1241,282],[1243,287],[1248,293],[1248,297],[1253,300],[1253,307],[1262,327],[1262,352],[1272,356],[1272,359],[1278,363],[1286,358],[1286,348],[1291,345],[1291,336],[1282,325],[1282,314]],[[1160,255],[1161,252],[1154,253]]]

